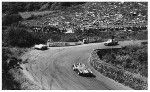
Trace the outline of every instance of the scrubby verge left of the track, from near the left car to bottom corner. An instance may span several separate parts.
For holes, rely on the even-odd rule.
[[[2,48],[2,90],[39,89],[37,85],[30,82],[22,73],[21,68],[11,67],[15,65],[7,62],[11,57],[19,59],[27,48],[3,47]]]

